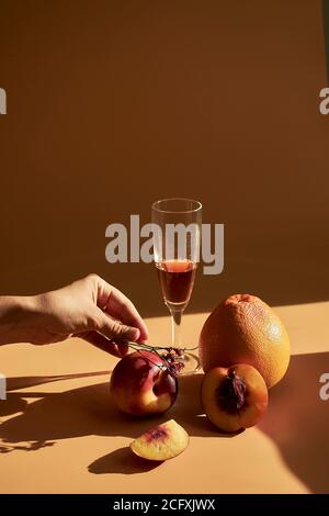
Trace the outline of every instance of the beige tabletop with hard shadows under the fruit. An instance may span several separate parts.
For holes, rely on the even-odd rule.
[[[8,400],[0,401],[1,493],[308,493],[329,492],[328,303],[276,309],[292,338],[285,379],[271,392],[262,423],[222,437],[202,415],[201,375],[180,380],[177,404],[160,417],[121,415],[109,395],[116,359],[80,339],[0,348]],[[206,314],[185,315],[194,345]],[[150,340],[169,341],[168,317],[147,321]],[[175,418],[191,436],[160,465],[134,458],[131,440]]]

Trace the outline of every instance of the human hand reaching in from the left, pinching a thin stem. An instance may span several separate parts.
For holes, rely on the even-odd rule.
[[[20,321],[13,324],[15,336],[11,335],[9,341],[44,345],[77,336],[123,357],[128,348],[121,340],[144,341],[148,337],[134,304],[97,274],[22,300]]]

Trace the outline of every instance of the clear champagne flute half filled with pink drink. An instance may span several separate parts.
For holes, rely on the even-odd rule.
[[[171,314],[172,348],[183,349],[181,322],[200,261],[202,204],[191,199],[163,199],[154,202],[151,210],[155,263]],[[180,374],[200,368],[198,358],[191,352],[183,352],[181,360],[184,368]]]

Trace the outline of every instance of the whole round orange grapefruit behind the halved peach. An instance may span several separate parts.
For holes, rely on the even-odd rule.
[[[291,345],[284,325],[266,303],[256,295],[235,294],[222,301],[206,319],[198,354],[204,372],[249,363],[270,389],[288,368]]]

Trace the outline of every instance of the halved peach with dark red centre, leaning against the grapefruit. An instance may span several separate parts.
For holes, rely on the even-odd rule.
[[[256,425],[266,411],[268,388],[252,366],[214,368],[202,382],[201,401],[208,419],[224,431]]]

